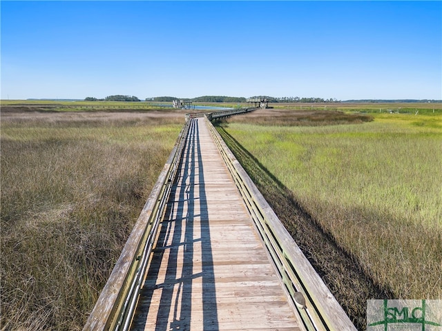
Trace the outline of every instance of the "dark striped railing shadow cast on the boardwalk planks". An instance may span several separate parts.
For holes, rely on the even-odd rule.
[[[193,310],[202,310],[204,330],[219,329],[198,121],[193,121],[190,130],[192,138],[184,149],[182,168],[177,172],[171,192],[171,199],[178,199],[168,203],[157,245],[153,250],[149,278],[140,295],[137,316],[144,320],[135,320],[132,330],[144,330],[154,292],[158,291],[161,295],[155,331],[192,330],[191,312],[192,303],[195,303],[195,299],[192,299],[192,295],[195,295],[192,293],[192,285],[196,280],[202,283],[202,294],[198,294],[202,295],[202,307]],[[198,234],[201,234],[200,237],[195,239]],[[197,268],[193,265],[194,254],[197,254],[196,245],[201,247],[198,254],[201,254],[202,266],[198,272],[195,272]],[[164,254],[167,265],[162,265]],[[164,278],[161,282],[160,272],[165,267],[166,274],[161,276]]]

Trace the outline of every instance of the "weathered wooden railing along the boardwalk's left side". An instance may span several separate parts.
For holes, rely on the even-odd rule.
[[[190,121],[182,128],[169,159],[124,245],[122,254],[84,325],[84,331],[128,329],[189,126]]]

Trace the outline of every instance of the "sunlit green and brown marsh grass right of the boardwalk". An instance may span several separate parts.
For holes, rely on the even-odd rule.
[[[248,172],[265,168],[380,290],[395,299],[442,298],[441,115],[310,127],[244,117],[220,123],[220,131],[256,159]],[[354,291],[344,277],[325,278],[337,291]]]

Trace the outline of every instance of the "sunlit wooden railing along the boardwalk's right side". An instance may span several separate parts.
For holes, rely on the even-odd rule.
[[[208,126],[307,330],[356,330],[220,134]]]

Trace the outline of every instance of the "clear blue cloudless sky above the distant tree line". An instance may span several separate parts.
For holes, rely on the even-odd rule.
[[[442,99],[442,1],[1,1],[1,99]]]

